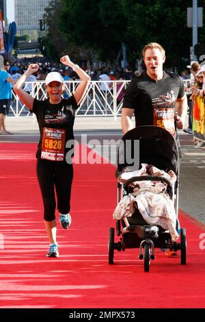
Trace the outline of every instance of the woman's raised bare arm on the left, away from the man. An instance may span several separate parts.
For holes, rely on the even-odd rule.
[[[33,97],[29,95],[24,89],[23,84],[25,83],[27,77],[29,75],[32,75],[36,73],[39,69],[38,64],[30,64],[27,71],[17,79],[15,85],[14,85],[14,92],[18,95],[20,98],[20,101],[22,101],[29,110],[33,110]]]

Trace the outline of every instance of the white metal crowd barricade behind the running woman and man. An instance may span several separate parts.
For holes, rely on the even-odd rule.
[[[184,80],[184,86],[189,86],[189,79]],[[92,81],[87,88],[87,94],[81,101],[76,116],[113,116],[116,120],[121,115],[123,93],[128,86],[128,80]],[[78,86],[79,81],[66,81],[64,97],[68,98]],[[44,81],[25,82],[25,90],[36,99],[47,98]],[[18,95],[12,91],[12,103],[9,116],[33,116]]]

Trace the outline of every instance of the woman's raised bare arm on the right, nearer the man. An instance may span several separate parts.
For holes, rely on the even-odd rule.
[[[87,73],[85,73],[85,71],[83,71],[83,69],[81,69],[78,65],[75,65],[73,62],[71,62],[68,55],[61,57],[60,61],[62,64],[71,67],[81,79],[81,83],[74,91],[74,99],[77,101],[77,104],[79,104],[85,95],[88,84],[90,83],[90,76],[87,75]]]

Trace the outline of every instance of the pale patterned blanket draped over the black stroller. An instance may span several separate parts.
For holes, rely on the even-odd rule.
[[[136,176],[160,176],[170,180],[173,185],[176,182],[174,171],[166,173],[159,170],[152,164],[141,164],[138,171],[129,171],[128,168],[122,170],[118,175],[118,182],[124,184],[127,179]],[[143,179],[143,178],[142,178]],[[131,217],[135,210],[139,210],[144,221],[150,225],[159,225],[165,230],[169,230],[172,240],[176,241],[179,237],[176,231],[176,213],[174,202],[167,193],[167,183],[154,180],[135,181],[129,184],[133,188],[133,193],[125,195],[113,212],[113,219],[123,219]]]

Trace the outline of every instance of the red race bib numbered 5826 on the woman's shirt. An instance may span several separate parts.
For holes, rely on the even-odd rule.
[[[66,129],[43,128],[41,158],[63,161],[65,154]]]

